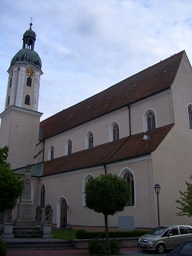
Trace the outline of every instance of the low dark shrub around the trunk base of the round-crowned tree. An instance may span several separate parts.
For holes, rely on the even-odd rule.
[[[118,254],[120,252],[120,250],[121,250],[120,242],[118,242],[115,239],[110,240],[110,253]],[[90,240],[89,253],[90,254],[108,255],[108,250],[106,248],[106,241],[99,240],[99,239]]]

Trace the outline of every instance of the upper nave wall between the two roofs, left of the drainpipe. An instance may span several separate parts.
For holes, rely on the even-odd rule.
[[[127,108],[124,108],[123,110],[118,110],[82,126],[78,126],[73,130],[58,134],[53,138],[46,139],[45,161],[48,160],[51,145],[54,146],[54,158],[65,155],[66,141],[68,138],[70,138],[73,143],[72,153],[85,150],[85,139],[89,130],[94,134],[94,146],[110,142],[110,124],[114,121],[118,122],[120,126],[120,138],[129,136],[129,111]]]

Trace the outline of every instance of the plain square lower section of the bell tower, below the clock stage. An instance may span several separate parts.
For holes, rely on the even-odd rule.
[[[12,106],[9,110],[2,118],[0,130],[1,146],[9,147],[7,161],[12,169],[34,164],[41,114]]]

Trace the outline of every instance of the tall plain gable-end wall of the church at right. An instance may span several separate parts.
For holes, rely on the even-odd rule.
[[[180,206],[175,202],[180,198],[178,191],[186,191],[185,182],[190,182],[189,176],[192,174],[192,130],[189,129],[187,114],[187,106],[192,102],[191,89],[191,67],[184,56],[172,86],[175,124],[153,154],[154,183],[162,186],[159,194],[162,224],[192,223],[191,218],[175,215],[179,211],[177,207]],[[155,209],[157,210],[157,207]]]

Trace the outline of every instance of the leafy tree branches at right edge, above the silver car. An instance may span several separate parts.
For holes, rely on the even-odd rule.
[[[189,177],[192,180],[192,175]],[[179,190],[181,194],[180,200],[176,200],[181,207],[177,207],[181,210],[177,213],[178,216],[187,215],[188,217],[192,216],[192,184],[190,182],[186,182],[186,191],[182,192]]]

